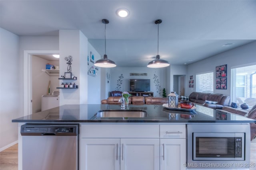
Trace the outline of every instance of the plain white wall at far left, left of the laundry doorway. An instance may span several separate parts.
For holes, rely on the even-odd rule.
[[[0,151],[18,140],[18,123],[23,115],[19,37],[0,28]]]

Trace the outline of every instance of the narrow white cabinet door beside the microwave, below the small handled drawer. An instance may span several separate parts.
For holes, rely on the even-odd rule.
[[[186,170],[186,139],[160,139],[160,170]]]

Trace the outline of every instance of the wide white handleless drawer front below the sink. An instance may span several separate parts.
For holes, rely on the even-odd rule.
[[[81,125],[82,138],[159,138],[159,125]]]

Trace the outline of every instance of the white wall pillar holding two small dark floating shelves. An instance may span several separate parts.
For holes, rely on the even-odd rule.
[[[60,106],[64,104],[86,104],[88,98],[88,74],[87,74],[87,38],[80,30],[60,30],[60,75],[67,72],[65,57],[71,55],[72,74],[77,77],[75,82],[78,89],[60,89]],[[61,80],[61,82],[70,82],[71,80]],[[100,86],[100,85],[99,85]]]

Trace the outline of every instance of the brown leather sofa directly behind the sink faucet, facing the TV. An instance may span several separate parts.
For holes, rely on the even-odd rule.
[[[119,99],[122,96],[110,96],[108,99],[101,101],[101,104],[120,104]],[[168,103],[168,98],[158,98],[158,97],[143,97],[143,96],[131,96],[129,97],[129,104],[165,104]]]

